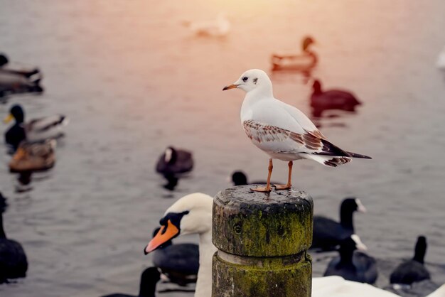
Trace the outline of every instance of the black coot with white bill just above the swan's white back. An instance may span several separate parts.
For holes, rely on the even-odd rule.
[[[355,249],[368,250],[356,234],[343,239],[338,249],[340,255],[329,262],[324,276],[341,276],[349,281],[374,284],[377,280],[375,259],[363,252],[354,252]]]

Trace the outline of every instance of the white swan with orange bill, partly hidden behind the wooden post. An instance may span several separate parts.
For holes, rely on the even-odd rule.
[[[212,243],[213,198],[193,193],[168,207],[161,219],[161,229],[151,239],[144,252],[153,252],[163,242],[181,234],[199,235],[199,271],[195,297],[212,296],[212,256],[216,248]],[[397,297],[395,293],[368,284],[346,281],[341,276],[314,277],[312,297]],[[427,297],[444,297],[445,285]],[[400,296],[399,296],[400,297]]]

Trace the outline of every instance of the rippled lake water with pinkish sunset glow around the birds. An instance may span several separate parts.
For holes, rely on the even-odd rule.
[[[220,11],[232,23],[225,38],[183,26]],[[169,205],[195,191],[215,195],[237,169],[266,178],[267,156],[240,126],[244,94],[221,90],[249,68],[268,70],[271,53],[299,51],[306,34],[318,43],[313,75],[363,102],[357,114],[321,120],[321,131],[373,160],[296,162],[294,186],[330,217],[344,197],[362,200],[368,213],[355,216],[356,232],[382,263],[378,286],[412,257],[419,234],[433,281],[445,283],[445,77],[434,68],[444,16],[442,0],[1,1],[0,50],[38,65],[45,92],[11,97],[0,117],[20,103],[28,119],[63,113],[70,124],[55,168],[28,193],[14,193],[10,156],[0,154],[6,233],[29,261],[26,279],[0,286],[0,295],[137,293],[151,263],[142,249]],[[272,81],[277,98],[309,114],[311,84],[294,74]],[[195,157],[173,193],[154,172],[168,145]],[[286,170],[275,162],[273,179],[285,180]],[[314,261],[314,276],[327,262]]]

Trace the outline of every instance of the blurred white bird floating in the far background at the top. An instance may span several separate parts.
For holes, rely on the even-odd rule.
[[[213,21],[185,22],[197,36],[224,37],[230,31],[230,21],[225,13],[219,13]]]

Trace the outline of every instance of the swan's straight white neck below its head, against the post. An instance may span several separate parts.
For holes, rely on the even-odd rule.
[[[212,243],[212,230],[199,234],[199,270],[195,297],[212,296],[212,257],[216,247]]]

